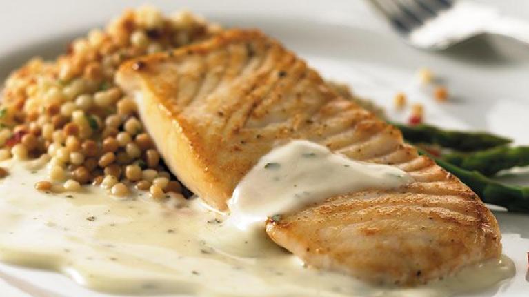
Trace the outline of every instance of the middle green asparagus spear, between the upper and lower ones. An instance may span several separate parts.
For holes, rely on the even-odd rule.
[[[469,154],[455,152],[442,158],[463,169],[476,170],[486,176],[492,176],[500,170],[529,165],[529,147],[495,147]]]

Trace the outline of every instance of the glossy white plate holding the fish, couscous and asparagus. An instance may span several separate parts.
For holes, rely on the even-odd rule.
[[[101,26],[142,1],[12,1],[3,8],[0,76],[34,54],[53,57],[72,37]],[[426,121],[444,127],[489,130],[529,144],[529,48],[499,37],[477,38],[446,52],[423,52],[399,41],[359,1],[154,2],[166,11],[187,7],[223,25],[261,28],[308,60],[323,76],[350,83],[361,96],[391,112],[398,91],[426,104]],[[494,2],[494,1],[488,1]],[[496,1],[496,4],[499,1]],[[182,5],[183,4],[183,5]],[[529,18],[529,2],[501,8]],[[428,67],[448,86],[450,102],[435,103],[415,74]],[[529,184],[529,178],[517,178]],[[503,250],[517,274],[476,296],[528,296],[529,215],[495,212]],[[3,281],[2,281],[3,279]],[[20,289],[17,289],[20,288]],[[96,294],[52,272],[0,265],[0,296],[110,296]],[[113,295],[112,295],[113,296]]]

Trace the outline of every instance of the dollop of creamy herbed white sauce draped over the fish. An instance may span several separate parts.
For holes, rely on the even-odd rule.
[[[353,161],[327,147],[295,140],[261,157],[228,201],[239,229],[263,230],[267,218],[287,214],[339,194],[390,189],[413,178],[395,166]]]

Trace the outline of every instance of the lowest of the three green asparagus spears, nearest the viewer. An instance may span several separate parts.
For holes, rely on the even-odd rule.
[[[466,183],[483,202],[506,207],[510,212],[529,212],[529,187],[504,185],[477,171],[464,170],[441,159],[434,159],[439,166]]]

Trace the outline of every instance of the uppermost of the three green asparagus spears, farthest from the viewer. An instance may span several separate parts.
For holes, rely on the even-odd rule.
[[[404,139],[411,143],[430,143],[448,147],[454,150],[470,152],[486,150],[511,143],[511,139],[489,134],[486,132],[461,132],[452,130],[441,130],[432,125],[402,125],[395,124],[402,131]]]

